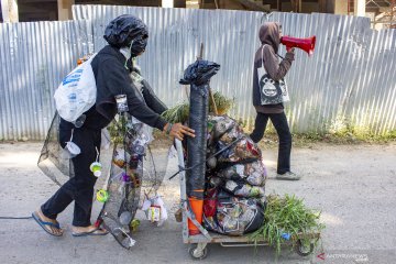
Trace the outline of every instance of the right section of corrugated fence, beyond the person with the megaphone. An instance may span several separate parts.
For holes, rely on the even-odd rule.
[[[287,75],[295,131],[396,130],[396,30],[332,14],[274,13],[285,34],[317,35],[315,55],[297,53]]]

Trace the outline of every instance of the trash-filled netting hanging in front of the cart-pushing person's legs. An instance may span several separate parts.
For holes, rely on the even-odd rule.
[[[133,221],[140,207],[141,191],[145,196],[156,193],[166,172],[167,158],[164,155],[167,156],[167,153],[156,150],[152,130],[133,117],[127,114],[118,123],[119,131],[123,132],[114,138],[110,176],[106,186],[108,198],[103,200],[97,224],[103,223],[122,246],[130,249],[134,244]],[[154,206],[163,207],[160,220],[166,220],[161,198],[153,199]]]

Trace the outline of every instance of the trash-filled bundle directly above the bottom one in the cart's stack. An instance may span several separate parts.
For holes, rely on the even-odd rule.
[[[235,164],[231,167],[217,173],[218,177],[226,179],[233,179],[237,182],[243,180],[246,184],[254,186],[264,186],[266,178],[266,170],[262,161],[256,161],[246,164]]]

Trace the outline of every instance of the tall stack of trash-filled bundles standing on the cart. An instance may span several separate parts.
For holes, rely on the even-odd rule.
[[[255,231],[265,208],[266,170],[258,146],[227,116],[209,117],[207,138],[205,227],[229,235]]]

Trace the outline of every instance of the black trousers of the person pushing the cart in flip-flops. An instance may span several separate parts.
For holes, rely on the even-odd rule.
[[[59,143],[64,147],[69,141],[72,131],[59,130]],[[42,207],[44,216],[56,219],[66,207],[75,201],[73,226],[88,227],[91,224],[91,209],[94,201],[94,186],[97,177],[90,172],[89,166],[96,161],[97,152],[100,151],[100,130],[75,129],[73,142],[81,153],[72,158],[74,177],[66,182]]]

